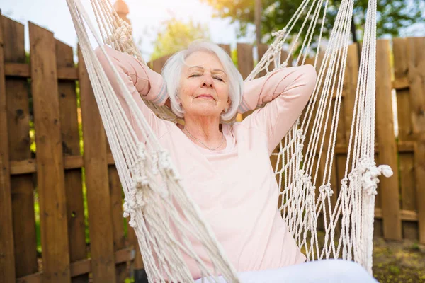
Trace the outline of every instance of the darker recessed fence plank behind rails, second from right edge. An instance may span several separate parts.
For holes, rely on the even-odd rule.
[[[394,54],[395,84],[399,81],[408,81],[409,54],[407,53],[407,39],[395,38],[392,40]],[[410,107],[410,90],[402,88],[396,90],[398,141],[413,141],[412,113]],[[414,180],[413,152],[399,153],[400,187],[402,190],[402,209],[416,211],[416,185]],[[418,224],[413,221],[403,221],[403,238],[418,238]]]

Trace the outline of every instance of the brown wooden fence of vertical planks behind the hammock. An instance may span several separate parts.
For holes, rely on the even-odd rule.
[[[142,269],[142,258],[134,231],[123,221],[123,193],[81,54],[76,65],[72,47],[29,23],[28,63],[24,26],[0,17],[0,278],[123,282],[130,267]],[[425,38],[394,40],[393,80],[390,47],[390,41],[379,40],[376,149],[378,163],[392,166],[395,175],[381,181],[375,231],[384,238],[425,243]],[[261,46],[260,55],[265,50]],[[254,66],[252,52],[251,45],[237,45],[244,77]],[[152,69],[159,71],[165,59],[152,62]],[[352,45],[332,178],[336,187],[344,173],[357,74],[358,52]]]

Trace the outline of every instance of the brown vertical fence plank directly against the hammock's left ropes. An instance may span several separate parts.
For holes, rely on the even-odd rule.
[[[79,86],[83,120],[84,168],[89,207],[91,272],[94,282],[115,282],[106,134],[80,50]]]

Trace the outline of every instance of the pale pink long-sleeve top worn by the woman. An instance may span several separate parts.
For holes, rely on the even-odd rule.
[[[210,151],[188,139],[173,122],[159,119],[143,103],[142,96],[158,105],[168,98],[160,74],[128,54],[109,47],[106,52],[159,142],[168,149],[184,187],[236,270],[266,270],[305,262],[278,211],[279,188],[269,157],[307,104],[316,81],[314,67],[288,67],[246,82],[239,112],[262,103],[266,106],[242,122],[223,125],[227,146]],[[120,88],[100,48],[96,54],[120,98]],[[120,100],[123,102],[122,97]],[[133,121],[125,103],[123,108]],[[195,239],[192,245],[212,267],[203,246]],[[199,278],[196,262],[183,256],[193,278]]]

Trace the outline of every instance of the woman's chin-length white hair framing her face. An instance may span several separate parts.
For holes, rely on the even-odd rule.
[[[162,77],[166,83],[166,88],[171,100],[171,110],[177,117],[183,118],[184,110],[177,100],[179,95],[179,84],[181,71],[185,60],[193,52],[207,51],[215,54],[223,65],[224,71],[229,79],[229,100],[231,101],[229,109],[220,115],[222,122],[230,121],[236,115],[237,108],[242,102],[242,86],[244,80],[239,71],[234,67],[232,58],[220,46],[205,40],[196,40],[191,42],[186,50],[181,50],[171,56],[162,68]]]

